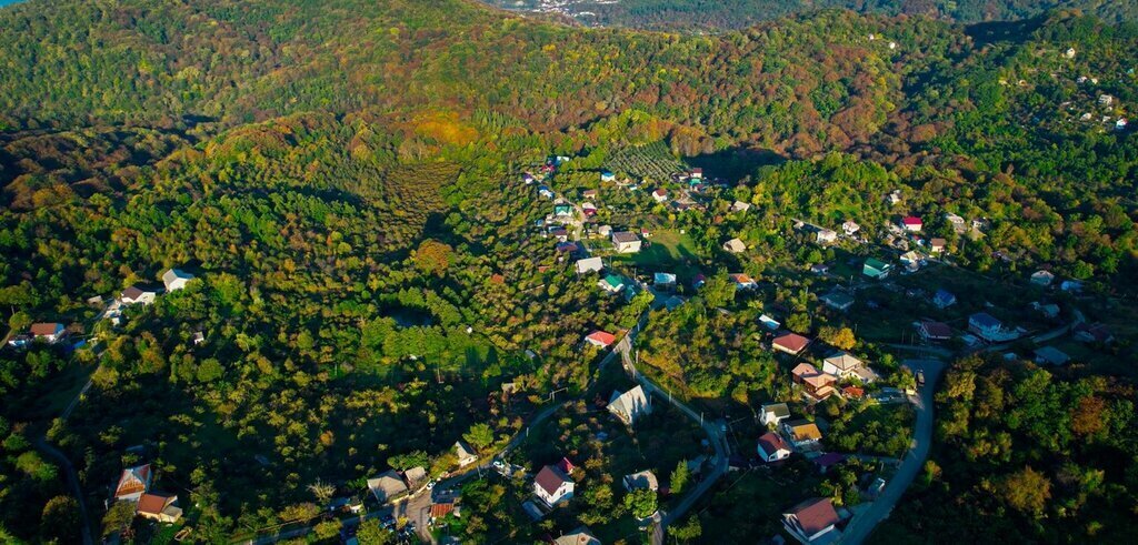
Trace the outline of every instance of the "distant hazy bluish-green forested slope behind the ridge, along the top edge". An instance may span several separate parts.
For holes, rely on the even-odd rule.
[[[690,31],[742,28],[816,9],[943,18],[960,23],[1014,20],[1052,9],[1078,9],[1106,20],[1133,20],[1133,0],[485,0],[505,9],[559,13],[585,25]]]

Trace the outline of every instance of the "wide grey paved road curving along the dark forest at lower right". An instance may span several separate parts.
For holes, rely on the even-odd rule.
[[[907,360],[905,364],[914,370],[924,370],[925,374],[925,386],[921,388],[921,396],[916,399],[917,423],[913,430],[913,446],[877,499],[869,505],[869,509],[850,520],[846,531],[842,532],[843,545],[857,545],[869,537],[877,523],[885,520],[893,511],[893,506],[901,499],[905,490],[924,466],[925,459],[929,457],[929,447],[932,444],[933,394],[937,391],[937,381],[945,371],[945,363],[938,360]]]

